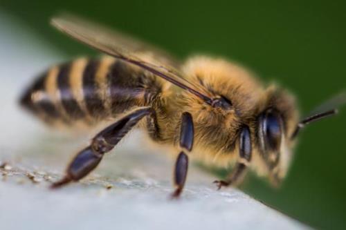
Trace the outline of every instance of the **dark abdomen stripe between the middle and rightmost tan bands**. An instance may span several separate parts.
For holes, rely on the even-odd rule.
[[[92,117],[102,117],[105,108],[98,93],[98,84],[95,81],[96,72],[100,61],[92,59],[88,62],[83,72],[83,94],[86,109]]]

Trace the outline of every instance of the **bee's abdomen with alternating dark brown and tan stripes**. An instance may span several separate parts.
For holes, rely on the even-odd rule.
[[[94,124],[150,104],[161,90],[155,83],[145,71],[111,57],[77,59],[39,77],[21,104],[47,122]]]

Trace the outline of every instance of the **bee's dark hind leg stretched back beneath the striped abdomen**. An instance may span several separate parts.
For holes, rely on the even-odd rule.
[[[150,107],[138,108],[136,111],[104,128],[104,130],[93,137],[89,146],[75,155],[67,167],[64,178],[53,183],[51,187],[57,188],[71,181],[78,181],[84,178],[98,166],[104,153],[111,151],[140,119],[153,112],[154,110]]]

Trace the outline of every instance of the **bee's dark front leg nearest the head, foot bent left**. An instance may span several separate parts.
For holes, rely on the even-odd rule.
[[[239,135],[239,160],[226,180],[215,180],[214,183],[217,184],[218,189],[221,189],[222,186],[237,185],[239,182],[242,182],[246,174],[247,166],[251,161],[251,153],[250,129],[248,126],[244,126]]]

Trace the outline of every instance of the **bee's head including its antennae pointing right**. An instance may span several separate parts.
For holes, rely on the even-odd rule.
[[[269,179],[274,185],[279,185],[289,169],[292,148],[300,129],[310,122],[336,114],[336,108],[346,104],[346,93],[329,99],[300,121],[293,97],[284,90],[271,87],[266,97],[255,125],[257,145]]]

